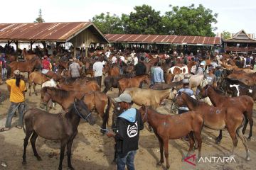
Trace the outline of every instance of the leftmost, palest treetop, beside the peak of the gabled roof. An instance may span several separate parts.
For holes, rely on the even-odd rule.
[[[118,34],[124,33],[124,28],[122,27],[122,21],[114,14],[110,16],[110,13],[100,13],[100,15],[96,15],[92,18],[92,22],[95,23],[97,28],[104,34]]]

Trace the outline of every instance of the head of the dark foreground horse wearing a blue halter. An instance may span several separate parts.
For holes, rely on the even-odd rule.
[[[73,108],[75,108],[75,113],[77,113],[80,116],[80,118],[82,118],[83,120],[86,120],[88,123],[90,123],[90,125],[94,125],[96,122],[95,118],[93,117],[90,109],[87,107],[87,105],[83,101],[84,98],[85,96],[83,96],[81,100],[78,98],[75,98],[73,103]]]

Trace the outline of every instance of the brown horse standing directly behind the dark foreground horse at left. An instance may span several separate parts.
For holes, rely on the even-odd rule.
[[[92,91],[90,93],[80,93],[78,91],[65,91],[60,89],[55,89],[53,87],[44,87],[41,89],[41,108],[46,105],[50,99],[58,103],[64,111],[68,111],[68,106],[73,102],[74,98],[84,98],[82,99],[90,111],[95,109],[97,113],[102,117],[102,129],[101,132],[105,132],[106,124],[108,123],[110,107],[112,106],[112,101],[110,97],[103,94],[100,91]],[[106,111],[104,113],[105,107]]]

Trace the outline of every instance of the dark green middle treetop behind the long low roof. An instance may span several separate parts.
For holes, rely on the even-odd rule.
[[[162,24],[160,11],[151,6],[135,6],[135,12],[129,16],[122,15],[122,22],[126,33],[133,34],[159,34]]]

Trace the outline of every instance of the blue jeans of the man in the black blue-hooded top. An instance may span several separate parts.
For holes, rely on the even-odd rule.
[[[129,151],[124,157],[120,157],[117,154],[117,170],[124,170],[125,165],[127,165],[128,170],[134,170],[134,157],[136,150]]]

